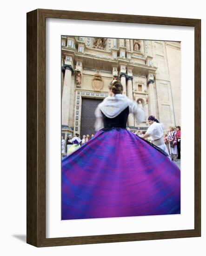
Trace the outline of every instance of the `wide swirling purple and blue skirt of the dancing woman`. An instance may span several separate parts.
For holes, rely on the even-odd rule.
[[[180,170],[126,129],[100,130],[62,160],[61,219],[180,214]]]

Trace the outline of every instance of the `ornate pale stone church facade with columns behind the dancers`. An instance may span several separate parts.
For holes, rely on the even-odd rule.
[[[94,134],[94,110],[115,78],[146,111],[141,124],[129,115],[131,130],[146,130],[149,115],[180,125],[180,65],[180,42],[62,36],[62,136]]]

